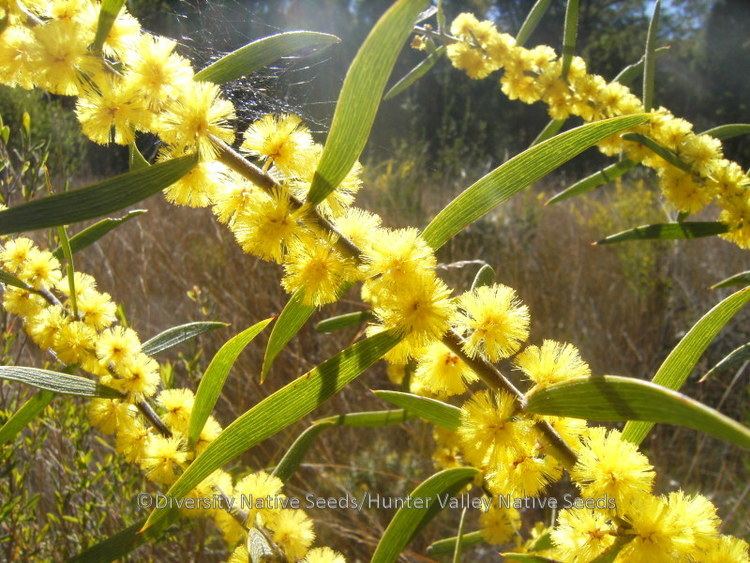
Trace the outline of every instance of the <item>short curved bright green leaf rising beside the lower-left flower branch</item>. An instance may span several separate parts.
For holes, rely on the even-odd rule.
[[[224,382],[229,375],[229,371],[234,366],[239,355],[256,336],[263,332],[263,329],[272,320],[271,318],[260,321],[233,336],[219,348],[219,351],[211,359],[211,363],[208,364],[198,384],[198,390],[195,392],[195,403],[193,404],[193,409],[190,413],[190,423],[188,424],[187,437],[189,443],[194,444],[200,436],[206,420],[214,410],[216,401],[219,399],[219,395],[221,395],[221,390],[224,388]]]

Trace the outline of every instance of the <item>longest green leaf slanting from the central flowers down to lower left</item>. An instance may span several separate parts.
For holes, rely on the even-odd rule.
[[[167,495],[184,497],[216,469],[307,416],[354,381],[399,340],[391,332],[381,332],[357,342],[263,399],[227,426],[188,466]],[[160,521],[162,513],[162,509],[152,512],[144,527]]]

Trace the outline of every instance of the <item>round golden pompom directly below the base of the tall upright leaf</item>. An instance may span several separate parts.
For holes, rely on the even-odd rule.
[[[357,277],[354,264],[336,249],[336,236],[293,240],[284,263],[281,285],[289,293],[304,292],[306,305],[320,307],[339,297],[342,285]]]

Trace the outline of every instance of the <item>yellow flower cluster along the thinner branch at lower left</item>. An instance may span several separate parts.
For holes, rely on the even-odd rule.
[[[135,331],[117,324],[115,303],[96,289],[91,276],[75,273],[74,312],[60,263],[30,239],[4,241],[0,266],[30,288],[7,286],[3,290],[3,307],[23,321],[29,338],[60,363],[80,367],[123,394],[122,398],[92,399],[88,406],[91,424],[113,434],[116,450],[128,462],[139,465],[148,479],[158,485],[173,483],[219,435],[221,426],[216,419],[210,416],[195,443],[188,443],[192,391],[174,388],[157,394],[159,364],[141,351]],[[153,396],[165,432],[155,429],[139,411]],[[310,549],[315,538],[312,521],[304,511],[287,508],[282,487],[278,478],[263,471],[233,483],[229,473],[217,470],[190,493],[200,502],[182,512],[190,517],[212,517],[232,546],[246,536],[245,526],[260,525],[292,561],[305,558],[308,563],[343,563],[343,557],[329,548]],[[239,519],[225,509],[229,503],[222,505],[219,495],[233,498],[232,505],[243,510]],[[247,561],[245,542],[236,549],[238,560],[243,560],[243,553]]]

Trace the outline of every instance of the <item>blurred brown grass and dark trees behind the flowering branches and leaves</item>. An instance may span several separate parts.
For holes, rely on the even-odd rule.
[[[249,40],[278,31],[310,29],[341,37],[314,58],[285,61],[231,87],[240,119],[268,112],[301,114],[323,138],[346,68],[387,0],[130,0],[144,26],[177,39],[197,67]],[[532,0],[449,0],[449,18],[473,11],[515,33]],[[650,0],[581,0],[578,52],[606,78],[637,61],[650,15]],[[750,3],[746,0],[666,2],[658,62],[657,102],[686,117],[696,130],[750,120]],[[530,39],[560,48],[564,2],[553,0]],[[406,49],[395,77],[422,57]],[[635,91],[639,86],[634,86]],[[83,185],[123,170],[123,151],[102,148],[78,132],[70,100],[0,89],[0,115],[10,136],[2,143],[13,165],[0,173],[11,200],[55,186]],[[24,131],[23,113],[31,116]],[[548,121],[541,105],[509,102],[496,80],[471,81],[443,61],[405,94],[383,104],[363,157],[360,205],[391,226],[423,226],[455,194],[523,150]],[[571,124],[575,125],[575,124]],[[150,156],[154,146],[141,140]],[[750,165],[750,142],[726,143],[726,153]],[[747,269],[747,253],[717,239],[592,247],[602,235],[665,218],[653,178],[631,172],[599,193],[555,206],[547,196],[604,163],[589,151],[544,182],[473,225],[441,250],[443,264],[481,259],[498,281],[516,288],[532,312],[532,341],[575,343],[595,373],[651,377],[684,332],[727,290],[708,287]],[[21,193],[20,186],[25,192]],[[279,272],[243,255],[231,235],[203,210],[175,208],[160,198],[149,212],[76,260],[124,305],[145,340],[172,325],[215,319],[231,328],[202,337],[165,361],[164,380],[193,387],[214,351],[231,334],[278,313],[286,296]],[[453,287],[468,287],[477,266],[441,272]],[[314,320],[356,308],[356,295],[318,313]],[[750,316],[741,314],[710,348],[685,391],[739,420],[748,420],[748,379],[743,369],[697,380],[736,346],[747,342]],[[5,364],[42,366],[44,358],[18,337],[17,321],[0,318]],[[357,337],[357,331],[320,335],[306,327],[260,386],[263,341],[244,353],[217,406],[223,424],[261,397],[320,363]],[[508,369],[508,366],[505,366]],[[316,416],[386,408],[369,389],[387,385],[384,370],[365,374]],[[0,384],[0,422],[28,397]],[[0,559],[64,560],[133,523],[142,514],[132,501],[144,485],[139,471],[114,455],[88,430],[81,401],[58,398],[22,439],[0,449]],[[304,428],[296,425],[248,452],[235,474],[272,466]],[[403,494],[431,472],[431,433],[418,422],[386,431],[333,429],[323,434],[289,486],[289,494],[320,496]],[[750,534],[750,463],[736,448],[689,430],[658,427],[646,444],[659,470],[660,490],[702,490],[717,504],[724,531]],[[87,471],[84,471],[87,469]],[[390,513],[327,511],[312,514],[322,542],[366,560]],[[538,518],[549,515],[536,514]],[[454,535],[458,515],[438,519],[415,543]],[[188,533],[189,529],[189,533]],[[467,557],[496,557],[479,548]],[[214,561],[225,556],[212,525],[184,522],[159,546],[134,559]],[[414,560],[418,560],[414,556]],[[424,558],[422,558],[424,560]]]

